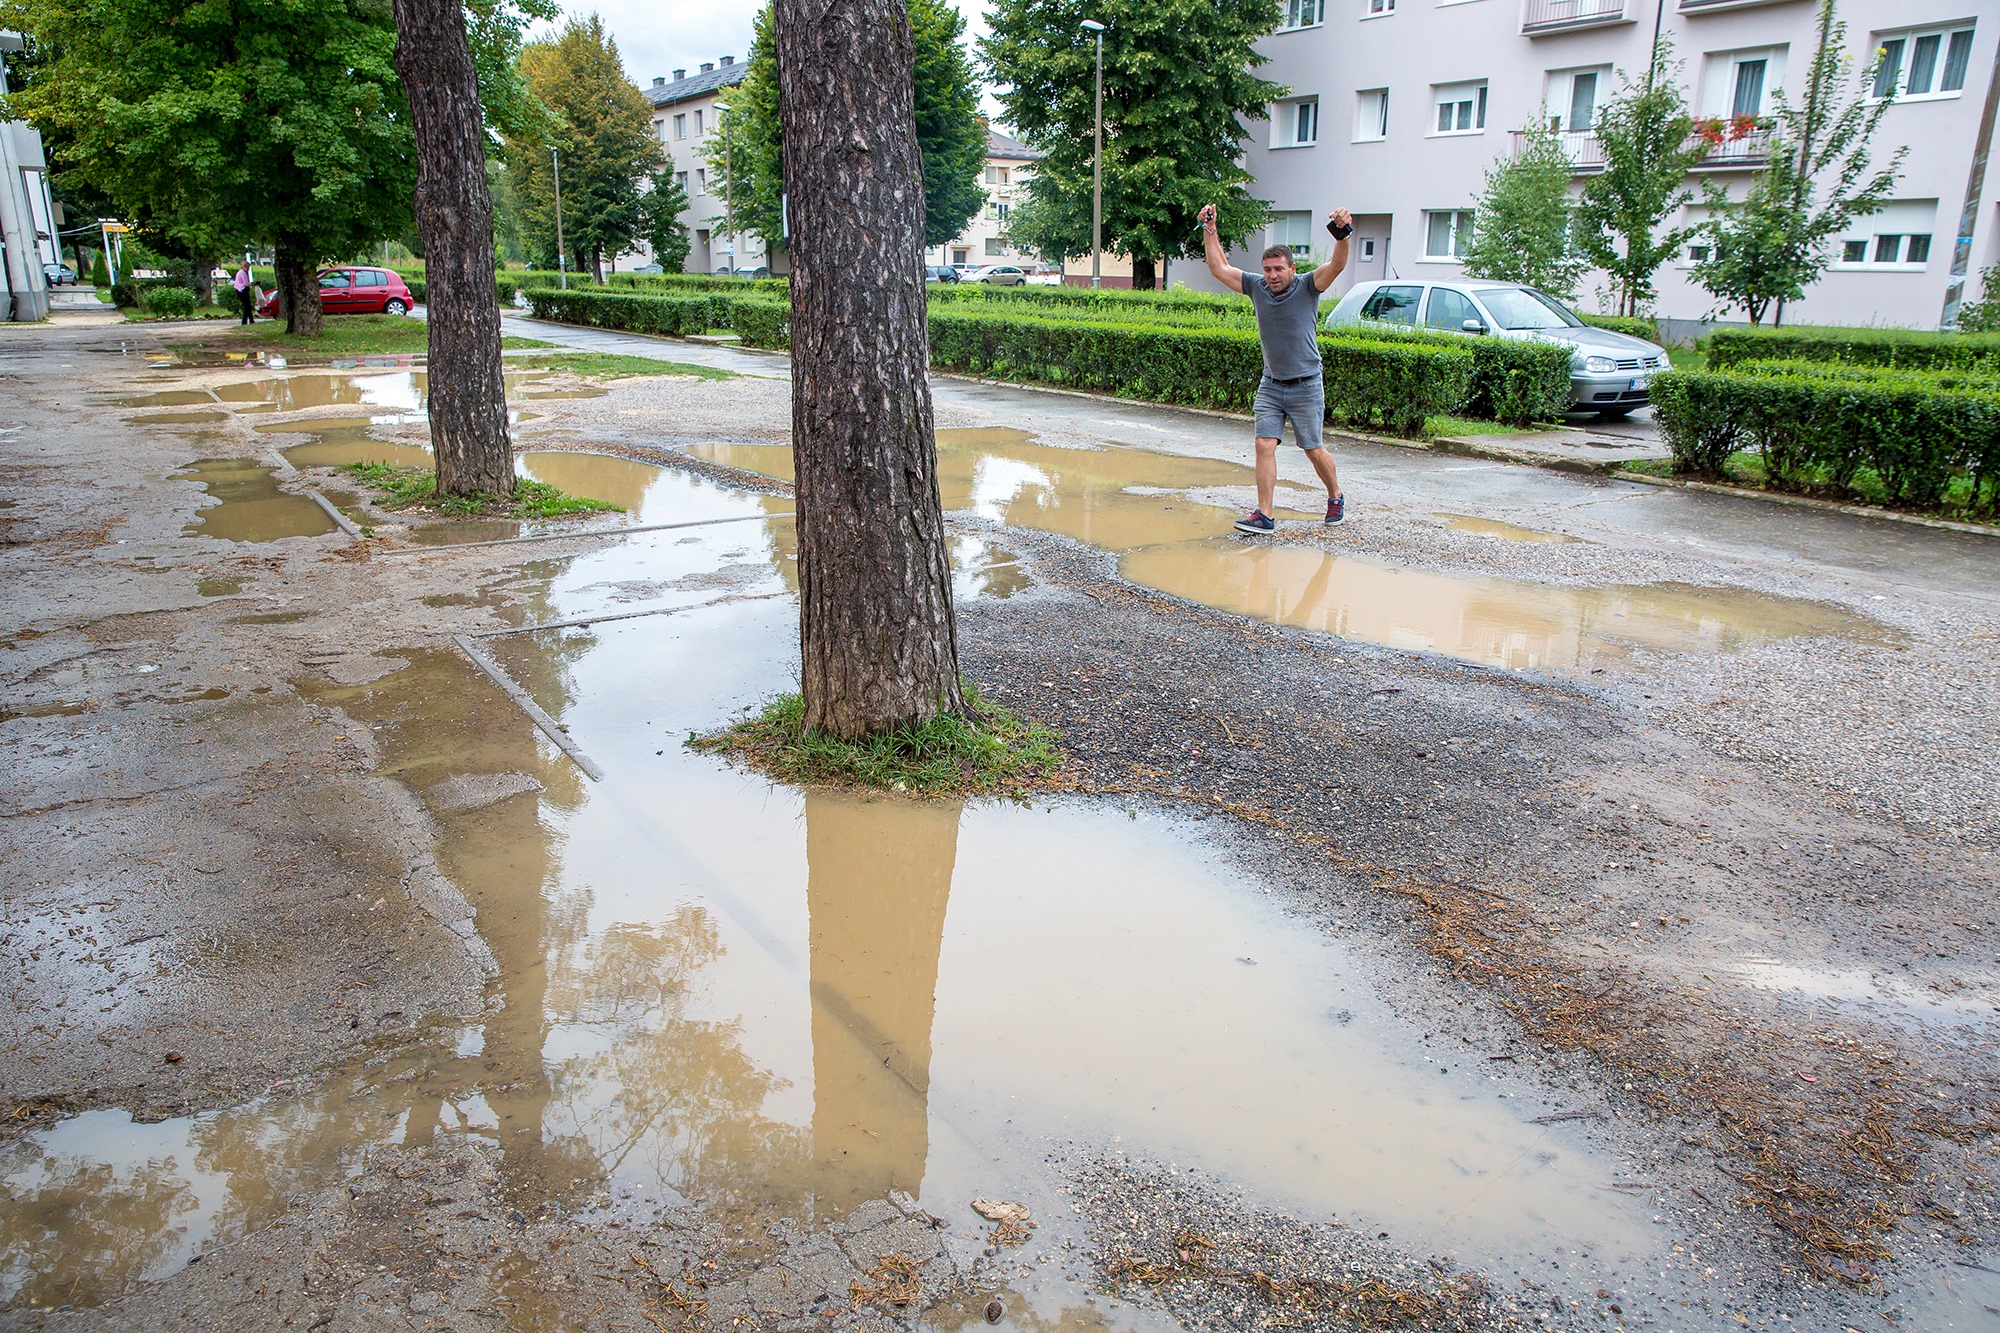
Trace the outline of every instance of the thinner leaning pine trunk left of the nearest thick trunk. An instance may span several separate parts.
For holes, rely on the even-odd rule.
[[[514,494],[486,124],[460,0],[396,0],[396,72],[416,130],[438,492]]]

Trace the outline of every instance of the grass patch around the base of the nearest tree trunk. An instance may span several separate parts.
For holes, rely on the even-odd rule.
[[[1062,765],[1056,733],[966,689],[966,711],[940,713],[866,741],[806,731],[802,695],[778,695],[760,713],[688,747],[726,755],[794,787],[872,787],[920,797],[1022,795]]]

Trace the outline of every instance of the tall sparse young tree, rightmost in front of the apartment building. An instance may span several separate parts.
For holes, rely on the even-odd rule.
[[[1872,96],[1878,54],[1842,100],[1850,72],[1844,46],[1846,24],[1834,18],[1834,0],[1820,0],[1804,96],[1794,106],[1782,88],[1772,94],[1774,128],[1764,172],[1736,202],[1720,182],[1702,190],[1714,210],[1704,224],[1714,248],[1694,266],[1694,280],[1724,306],[1742,308],[1752,324],[1772,306],[1784,322],[1784,302],[1804,296],[1826,272],[1832,238],[1888,202],[1908,152],[1898,148],[1888,166],[1870,170],[1868,144],[1890,98]]]

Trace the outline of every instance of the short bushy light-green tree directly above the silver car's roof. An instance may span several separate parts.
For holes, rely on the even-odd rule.
[[[1576,252],[1570,158],[1546,120],[1530,122],[1522,152],[1486,170],[1474,208],[1470,278],[1526,282],[1564,300],[1590,266]]]

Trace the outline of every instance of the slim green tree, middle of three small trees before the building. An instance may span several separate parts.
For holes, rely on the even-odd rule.
[[[1660,294],[1652,276],[1694,234],[1692,226],[1660,230],[1694,198],[1688,172],[1710,150],[1694,132],[1672,54],[1672,42],[1660,38],[1646,76],[1638,82],[1624,76],[1604,106],[1598,118],[1604,170],[1584,182],[1576,206],[1576,240],[1584,258],[1612,276],[1618,314],[1638,314]]]

